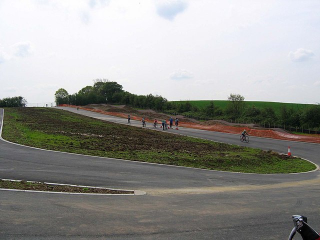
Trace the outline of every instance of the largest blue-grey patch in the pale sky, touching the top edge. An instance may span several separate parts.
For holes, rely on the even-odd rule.
[[[173,20],[178,13],[185,10],[187,3],[183,0],[159,0],[155,7],[159,16]]]

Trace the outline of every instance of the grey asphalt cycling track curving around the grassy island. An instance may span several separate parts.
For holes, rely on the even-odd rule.
[[[319,144],[252,136],[241,143],[234,134],[182,127],[168,131],[278,152],[290,145],[293,155],[320,164]],[[308,223],[320,229],[319,171],[221,172],[46,151],[1,140],[0,177],[146,192],[89,196],[1,190],[0,239],[286,239],[293,214],[308,216]]]

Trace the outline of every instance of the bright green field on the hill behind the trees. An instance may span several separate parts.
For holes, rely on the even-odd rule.
[[[174,103],[182,103],[186,101],[171,101]],[[191,100],[188,101],[192,105],[195,105],[197,107],[205,107],[210,104],[211,100]],[[215,106],[220,107],[221,109],[225,109],[229,101],[227,100],[213,100],[213,103]],[[244,101],[246,106],[256,106],[257,108],[263,108],[263,107],[271,107],[275,114],[278,114],[280,112],[280,107],[285,105],[287,108],[293,108],[293,109],[304,109],[307,106],[310,106],[312,104],[302,104],[302,103],[287,103],[287,102],[273,102],[273,101]]]

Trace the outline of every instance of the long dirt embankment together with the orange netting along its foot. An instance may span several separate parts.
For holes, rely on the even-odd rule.
[[[67,105],[67,104],[63,104],[63,106],[77,107],[74,105]],[[255,127],[254,124],[230,123],[222,120],[209,120],[209,121],[203,122],[203,121],[197,121],[193,118],[186,118],[181,115],[167,115],[164,113],[156,112],[151,109],[150,110],[133,109],[125,105],[88,104],[85,106],[79,106],[79,108],[94,111],[94,112],[99,112],[103,114],[119,116],[123,118],[127,118],[127,115],[130,114],[130,117],[133,120],[141,120],[142,116],[144,116],[147,122],[153,122],[154,118],[161,120],[163,118],[169,119],[170,117],[173,117],[173,118],[177,117],[179,119],[179,126],[183,126],[183,127],[235,133],[235,134],[241,134],[241,132],[245,128],[246,131],[249,133],[249,135],[252,135],[252,136],[320,143],[319,135],[310,136],[310,135],[291,134],[280,128],[260,128],[260,127]]]

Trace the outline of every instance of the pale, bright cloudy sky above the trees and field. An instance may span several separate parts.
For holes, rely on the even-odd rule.
[[[168,100],[320,102],[319,0],[0,0],[0,99],[108,79]]]

